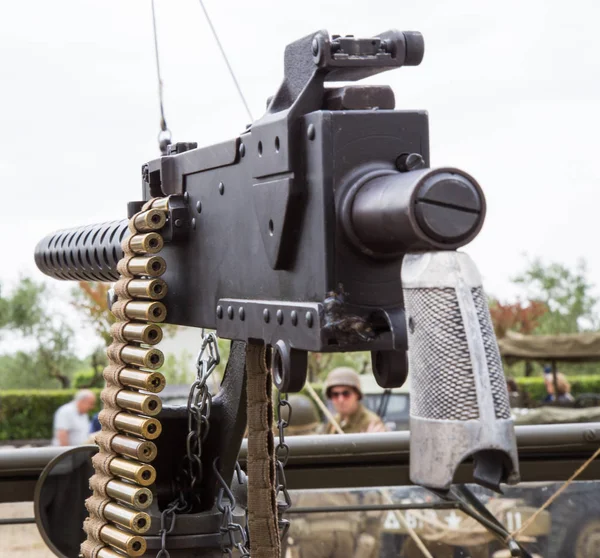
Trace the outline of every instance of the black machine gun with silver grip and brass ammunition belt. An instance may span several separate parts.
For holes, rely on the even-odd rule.
[[[119,412],[160,411],[155,396],[133,389],[158,391],[161,383],[144,372],[161,362],[160,352],[147,348],[160,330],[142,322],[211,328],[233,341],[210,421],[199,420],[210,430],[201,440],[192,432],[196,451],[190,452],[188,436],[186,455],[188,409],[165,407],[160,424],[153,423],[154,433],[163,432],[156,441],[153,517],[176,499],[172,481],[181,460],[199,464],[188,486],[194,503],[171,509],[187,518],[177,522],[172,548],[214,545],[214,538],[200,540],[197,533],[218,531],[215,505],[234,477],[242,480],[234,467],[246,427],[252,347],[268,349],[281,393],[304,385],[308,351],[370,351],[385,388],[402,385],[410,369],[412,481],[447,490],[467,458],[481,484],[498,489],[518,481],[508,395],[481,279],[456,252],[483,225],[483,192],[459,169],[430,168],[427,113],[394,110],[391,88],[326,87],[416,66],[423,54],[416,32],[358,39],[318,31],[300,39],[286,48],[285,77],[266,113],[239,137],[205,148],[171,145],[166,156],[142,166],[142,200],[129,204],[128,219],[59,231],[38,244],[36,263],[51,277],[119,280],[111,301],[122,320],[115,331],[120,344],[109,351],[114,389],[103,397],[114,411],[103,422],[110,431],[143,438],[150,423],[144,427],[128,416],[133,428]],[[206,338],[204,348],[210,346]],[[255,357],[256,367],[263,355]],[[214,365],[214,359],[202,362],[205,372]],[[205,388],[204,377],[196,388]],[[255,383],[264,378],[268,371]],[[190,403],[203,397],[204,391],[192,391]],[[266,402],[264,408],[269,417]],[[249,448],[258,439],[252,413],[260,414],[250,411]],[[111,436],[101,448],[130,460],[113,460],[120,468],[106,466],[108,477],[156,456],[156,448],[132,449],[130,438]],[[139,480],[140,471],[125,478]],[[94,513],[106,518],[99,506]],[[146,538],[149,551],[161,548],[158,539]],[[101,556],[98,547],[94,552],[86,556]],[[263,555],[272,554],[253,550]]]

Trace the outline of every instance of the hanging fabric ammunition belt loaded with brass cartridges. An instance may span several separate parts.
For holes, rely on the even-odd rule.
[[[124,257],[118,264],[120,279],[115,285],[112,313],[117,322],[111,328],[113,343],[107,350],[109,364],[104,370],[105,388],[101,399],[100,447],[93,458],[93,495],[86,501],[89,517],[81,545],[84,558],[141,556],[146,541],[140,536],[150,528],[150,516],[143,510],[152,504],[150,487],[156,471],[152,440],[161,433],[154,418],[162,403],[156,394],[165,378],[156,370],[164,357],[155,345],[162,339],[157,322],[164,322],[166,308],[160,300],[167,285],[160,279],[166,271],[160,230],[168,212],[168,198],[154,198],[129,221],[131,235],[123,240]],[[149,392],[149,393],[142,393]],[[119,552],[116,552],[119,551]]]

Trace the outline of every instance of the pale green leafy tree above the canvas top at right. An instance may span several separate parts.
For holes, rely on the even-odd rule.
[[[587,278],[584,260],[570,270],[564,264],[544,264],[540,259],[534,259],[513,281],[525,288],[529,300],[542,302],[548,308],[539,316],[533,333],[577,333],[598,329],[598,299],[592,294],[594,285]]]

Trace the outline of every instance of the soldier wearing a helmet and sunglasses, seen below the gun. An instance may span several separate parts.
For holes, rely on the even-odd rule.
[[[381,418],[361,403],[360,376],[352,368],[334,368],[325,381],[325,395],[333,403],[344,434],[386,431]],[[336,433],[333,424],[327,426],[326,433]]]

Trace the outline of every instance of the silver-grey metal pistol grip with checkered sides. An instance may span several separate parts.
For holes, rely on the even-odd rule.
[[[497,490],[519,480],[502,361],[481,278],[460,252],[405,256],[410,478],[437,489],[474,459],[476,482]]]

